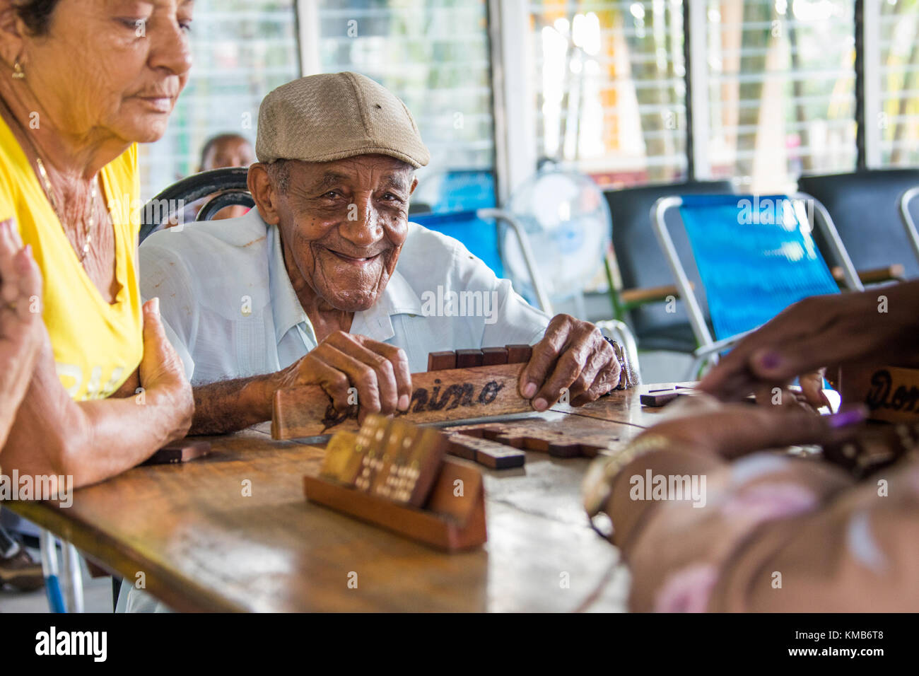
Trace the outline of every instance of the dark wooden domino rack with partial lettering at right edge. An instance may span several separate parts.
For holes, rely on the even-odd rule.
[[[864,404],[869,420],[919,421],[919,369],[844,366],[839,373],[844,404]]]

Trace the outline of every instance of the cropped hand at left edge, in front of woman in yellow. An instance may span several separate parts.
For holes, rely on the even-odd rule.
[[[41,273],[12,221],[0,223],[0,449],[45,339]]]

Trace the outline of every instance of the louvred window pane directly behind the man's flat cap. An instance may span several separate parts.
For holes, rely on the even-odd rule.
[[[319,0],[318,66],[355,71],[412,111],[431,152],[415,200],[452,210],[448,185],[494,205],[491,63],[485,0]]]

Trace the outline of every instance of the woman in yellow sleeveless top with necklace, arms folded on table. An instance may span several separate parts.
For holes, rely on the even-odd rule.
[[[191,5],[0,0],[0,238],[30,247],[47,329],[5,474],[91,484],[187,432],[190,387],[138,291],[135,143],[163,135],[187,82]]]

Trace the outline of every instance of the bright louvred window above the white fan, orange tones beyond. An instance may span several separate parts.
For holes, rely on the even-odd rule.
[[[682,0],[534,0],[528,33],[538,157],[603,186],[685,176]]]

